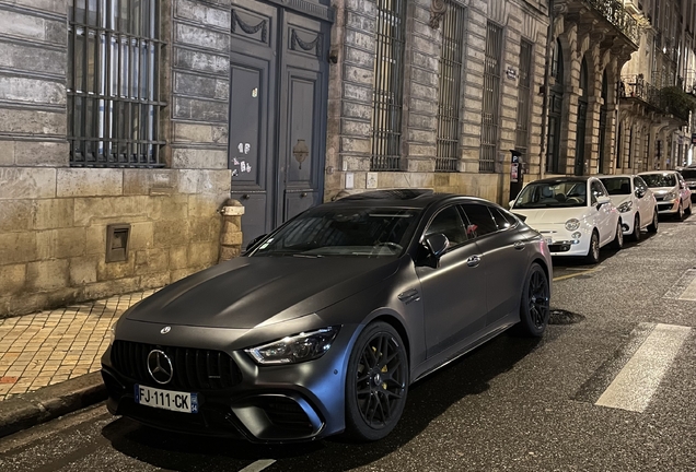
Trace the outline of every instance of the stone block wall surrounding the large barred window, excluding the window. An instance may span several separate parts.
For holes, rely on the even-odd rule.
[[[160,7],[167,168],[71,168],[68,0],[0,2],[0,317],[159,287],[219,260],[230,1]],[[130,225],[124,262],[106,262],[114,223]]]

